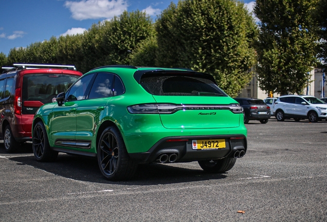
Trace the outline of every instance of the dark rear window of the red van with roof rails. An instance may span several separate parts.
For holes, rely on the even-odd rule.
[[[38,107],[24,106],[24,101],[51,103],[52,98],[66,91],[78,78],[79,76],[75,75],[53,73],[25,75],[22,87],[22,114],[35,114],[38,109]]]

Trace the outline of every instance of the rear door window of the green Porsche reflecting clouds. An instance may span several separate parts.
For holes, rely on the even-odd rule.
[[[111,73],[98,73],[92,85],[88,99],[111,97],[114,95],[112,90],[114,75]]]

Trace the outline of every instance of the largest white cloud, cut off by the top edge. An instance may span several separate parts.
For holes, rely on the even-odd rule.
[[[82,0],[80,2],[66,1],[65,5],[76,20],[113,18],[127,10],[125,0]]]

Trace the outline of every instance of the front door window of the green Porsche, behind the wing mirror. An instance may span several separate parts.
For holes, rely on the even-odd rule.
[[[68,94],[66,95],[66,101],[76,101],[85,99],[85,92],[88,88],[90,81],[92,80],[94,74],[87,75],[77,81],[69,89]]]

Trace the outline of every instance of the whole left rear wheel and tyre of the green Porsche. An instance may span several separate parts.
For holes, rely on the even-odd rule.
[[[137,163],[130,159],[120,132],[115,127],[109,126],[103,131],[97,150],[99,168],[106,179],[117,181],[134,176]]]

